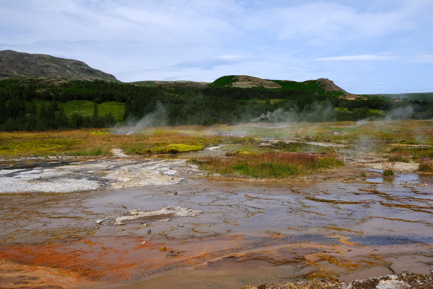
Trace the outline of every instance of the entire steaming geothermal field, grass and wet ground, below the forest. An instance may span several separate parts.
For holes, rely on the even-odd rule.
[[[1,133],[2,288],[431,288],[431,120],[119,130]]]

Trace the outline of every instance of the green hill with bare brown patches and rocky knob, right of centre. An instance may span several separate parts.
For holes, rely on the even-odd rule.
[[[283,88],[283,89],[302,89],[313,92],[321,92],[337,95],[341,98],[355,99],[360,95],[351,94],[340,88],[328,78],[316,80],[306,80],[303,82],[290,80],[271,80],[253,77],[249,75],[226,75],[213,81],[209,86],[229,86],[240,88]]]

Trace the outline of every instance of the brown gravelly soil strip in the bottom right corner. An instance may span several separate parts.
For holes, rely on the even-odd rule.
[[[300,283],[260,284],[248,286],[242,289],[427,289],[433,286],[433,271],[430,274],[414,274],[404,272],[398,275],[372,277],[364,280],[354,280],[350,283],[326,282],[324,280],[312,280]]]

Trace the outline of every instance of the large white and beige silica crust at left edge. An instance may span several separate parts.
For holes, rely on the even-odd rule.
[[[95,189],[174,185],[205,175],[185,159],[83,159],[39,162],[37,168],[0,170],[0,193],[81,192]],[[47,166],[49,166],[47,168]]]

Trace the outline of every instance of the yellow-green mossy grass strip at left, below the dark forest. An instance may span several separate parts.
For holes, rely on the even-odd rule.
[[[110,156],[120,148],[128,155],[184,153],[220,144],[246,143],[248,138],[170,134],[116,135],[108,130],[0,133],[0,157]]]

